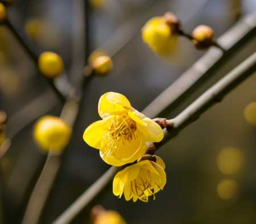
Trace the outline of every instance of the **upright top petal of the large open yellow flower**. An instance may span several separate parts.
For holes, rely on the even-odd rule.
[[[127,112],[127,109],[131,109],[129,100],[117,92],[106,92],[98,102],[98,114],[102,118]]]

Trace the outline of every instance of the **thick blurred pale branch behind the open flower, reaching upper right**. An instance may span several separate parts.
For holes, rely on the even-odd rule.
[[[195,84],[202,81],[212,73],[220,62],[227,60],[232,53],[246,43],[249,36],[255,35],[256,14],[246,16],[229,31],[217,39],[226,49],[223,53],[220,49],[212,47],[190,69],[185,71],[174,83],[153,100],[145,109],[148,117],[155,117],[165,109],[170,108],[185,91],[195,88]]]

